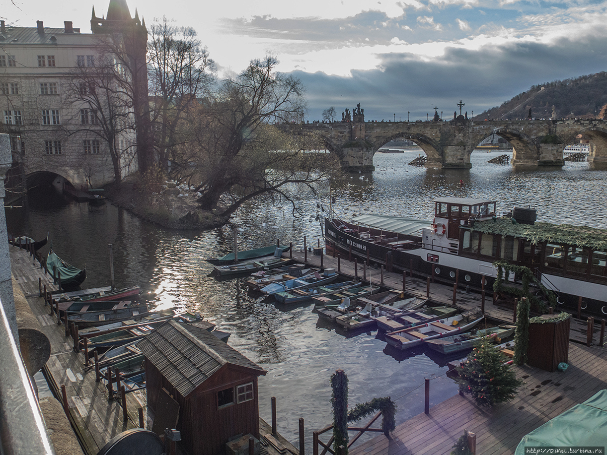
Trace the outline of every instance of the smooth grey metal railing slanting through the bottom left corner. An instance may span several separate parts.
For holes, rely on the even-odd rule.
[[[0,303],[0,453],[55,454],[30,376]]]

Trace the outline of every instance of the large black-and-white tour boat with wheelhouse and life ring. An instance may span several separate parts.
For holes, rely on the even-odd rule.
[[[497,202],[481,198],[435,200],[429,221],[359,215],[353,223],[325,218],[327,252],[353,255],[435,280],[492,289],[495,261],[531,269],[557,295],[560,309],[607,314],[607,231],[535,223],[535,209],[514,207],[498,217]],[[412,235],[422,232],[421,237]],[[514,274],[509,279],[514,280]],[[485,279],[483,283],[483,278]]]

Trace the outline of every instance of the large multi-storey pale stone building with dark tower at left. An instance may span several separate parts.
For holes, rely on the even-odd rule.
[[[107,19],[93,8],[91,30],[0,21],[0,132],[11,139],[13,185],[97,187],[138,169],[135,120],[147,112],[147,72],[131,63],[145,61],[145,24],[125,0],[110,0]],[[103,101],[110,86],[119,95]]]

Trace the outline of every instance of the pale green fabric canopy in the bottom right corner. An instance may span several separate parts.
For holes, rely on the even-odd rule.
[[[605,447],[607,389],[554,417],[521,439],[515,455],[525,447]]]

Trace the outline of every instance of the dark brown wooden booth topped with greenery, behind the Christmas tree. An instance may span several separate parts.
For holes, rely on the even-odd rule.
[[[550,319],[553,315],[540,316]],[[527,365],[546,371],[555,371],[569,357],[569,325],[571,318],[556,322],[529,324],[529,347]]]

